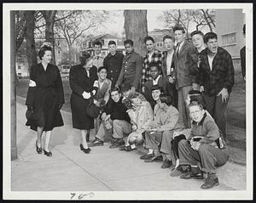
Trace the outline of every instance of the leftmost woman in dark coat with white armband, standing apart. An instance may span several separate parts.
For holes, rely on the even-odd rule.
[[[64,104],[64,93],[61,74],[57,66],[49,64],[52,49],[44,45],[39,50],[41,63],[34,65],[30,72],[30,82],[26,96],[26,105],[32,116],[26,121],[26,126],[37,131],[36,149],[38,154],[51,156],[49,138],[54,127],[63,126],[61,106]],[[44,144],[42,134],[45,132]]]

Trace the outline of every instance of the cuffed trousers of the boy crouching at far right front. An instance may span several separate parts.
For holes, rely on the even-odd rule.
[[[191,148],[187,140],[178,143],[180,165],[198,166],[201,163],[201,171],[217,173],[218,166],[223,166],[228,160],[228,149],[219,149],[211,144],[201,144],[198,151]]]

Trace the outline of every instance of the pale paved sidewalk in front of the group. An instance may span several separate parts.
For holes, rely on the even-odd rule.
[[[11,162],[12,191],[171,191],[201,190],[204,180],[172,178],[161,162],[145,163],[141,150],[109,149],[109,144],[80,149],[79,131],[71,114],[61,111],[64,127],[54,129],[50,140],[52,157],[38,155],[36,134],[25,126],[25,101],[17,98],[17,147],[19,158]],[[92,139],[93,135],[91,135]],[[212,190],[246,189],[246,166],[228,162],[218,172],[219,185]]]

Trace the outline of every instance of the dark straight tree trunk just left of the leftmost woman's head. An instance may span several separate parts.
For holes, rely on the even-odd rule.
[[[34,38],[34,29],[35,29],[35,19],[34,19],[34,10],[26,11],[26,57],[28,62],[28,69],[32,65],[38,63],[36,44]]]

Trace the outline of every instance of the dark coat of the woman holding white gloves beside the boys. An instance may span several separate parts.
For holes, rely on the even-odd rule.
[[[90,76],[87,76],[82,65],[74,65],[69,72],[69,84],[73,91],[70,98],[73,127],[80,130],[94,128],[94,119],[86,114],[90,99],[84,99],[82,94],[84,91],[92,93],[93,90],[97,90],[97,87],[93,87],[98,79],[96,66],[92,66],[89,72]]]

